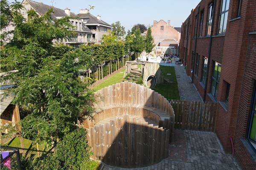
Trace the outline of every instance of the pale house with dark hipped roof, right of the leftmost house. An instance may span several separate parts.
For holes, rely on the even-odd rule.
[[[88,9],[80,9],[78,17],[81,18],[81,21],[92,31],[91,40],[96,43],[102,42],[102,35],[109,34],[108,31],[111,31],[113,28],[110,24],[101,20],[101,16],[97,15],[97,17],[90,14]]]

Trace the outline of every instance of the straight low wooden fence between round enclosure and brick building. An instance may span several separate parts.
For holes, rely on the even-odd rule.
[[[217,102],[171,100],[175,113],[175,128],[215,132]]]

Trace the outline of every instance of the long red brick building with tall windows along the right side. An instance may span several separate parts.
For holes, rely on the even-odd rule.
[[[180,57],[204,101],[219,102],[216,133],[256,170],[256,0],[201,0],[182,24]]]

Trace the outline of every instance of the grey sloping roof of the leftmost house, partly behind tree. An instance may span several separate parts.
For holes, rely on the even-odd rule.
[[[57,17],[66,17],[67,14],[65,10],[60,8],[55,8],[54,6],[48,6],[44,3],[38,3],[32,0],[26,0],[40,15],[44,15],[50,8],[53,8],[52,18],[57,19]],[[76,14],[70,12],[72,17],[76,17]],[[82,22],[82,30],[86,32],[92,32],[83,22]]]

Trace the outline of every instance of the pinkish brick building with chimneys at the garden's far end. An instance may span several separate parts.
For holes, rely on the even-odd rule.
[[[172,27],[169,20],[167,23],[164,20],[160,20],[159,22],[154,20],[151,31],[154,37],[155,54],[178,55],[181,28]]]

